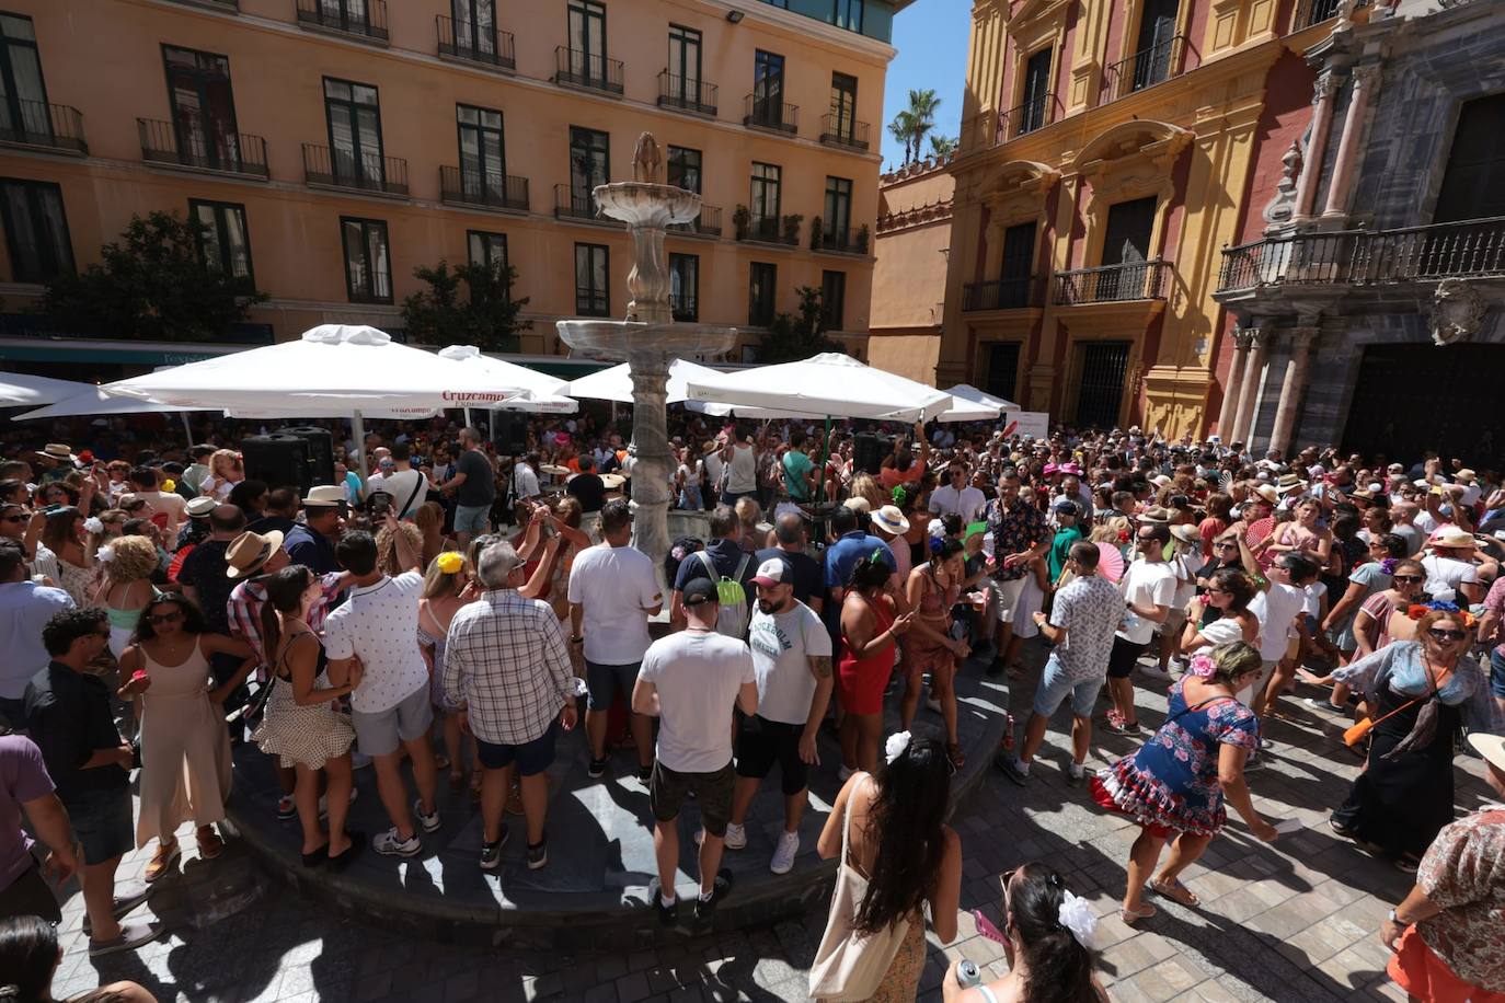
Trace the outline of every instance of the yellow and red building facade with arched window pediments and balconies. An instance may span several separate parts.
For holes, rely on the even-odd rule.
[[[936,385],[1206,430],[1269,90],[1336,6],[975,0]]]

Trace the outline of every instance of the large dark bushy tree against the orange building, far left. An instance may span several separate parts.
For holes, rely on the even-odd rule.
[[[176,212],[131,217],[99,263],[62,275],[41,310],[63,329],[163,341],[223,338],[266,299],[202,253],[208,227]]]

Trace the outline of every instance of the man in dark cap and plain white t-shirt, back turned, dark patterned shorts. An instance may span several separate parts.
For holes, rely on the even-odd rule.
[[[716,585],[698,577],[685,585],[686,627],[655,641],[643,656],[632,689],[632,710],[659,719],[658,761],[649,780],[658,884],[653,907],[665,926],[677,919],[674,874],[679,871],[679,809],[695,797],[700,806],[700,895],[695,916],[704,919],[731,889],[721,869],[731,817],[731,705],[757,713],[757,675],[746,644],[716,633]]]

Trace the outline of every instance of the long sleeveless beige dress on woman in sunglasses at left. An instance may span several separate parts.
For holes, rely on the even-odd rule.
[[[154,662],[141,648],[152,686],[141,693],[141,818],[135,845],[172,839],[193,820],[224,820],[230,797],[230,732],[209,701],[209,659],[199,644],[182,665]]]

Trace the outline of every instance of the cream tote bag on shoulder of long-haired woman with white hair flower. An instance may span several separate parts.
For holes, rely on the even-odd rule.
[[[810,965],[810,995],[817,1000],[865,1000],[877,992],[888,967],[894,964],[909,920],[901,919],[876,934],[856,929],[856,914],[867,896],[867,878],[858,874],[849,862],[849,835],[852,829],[852,800],[847,798],[841,818],[841,866],[837,871],[837,886],[831,892],[831,914],[826,932]]]

